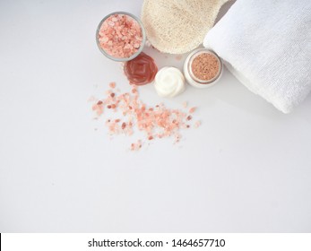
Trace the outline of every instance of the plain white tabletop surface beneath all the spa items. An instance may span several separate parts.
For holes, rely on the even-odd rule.
[[[138,152],[91,119],[91,95],[128,90],[96,46],[98,22],[141,4],[0,2],[0,231],[310,231],[310,96],[284,115],[225,71],[164,100],[197,106],[201,127]]]

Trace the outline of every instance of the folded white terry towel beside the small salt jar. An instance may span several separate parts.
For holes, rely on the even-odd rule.
[[[311,90],[311,0],[238,0],[203,46],[250,91],[289,113]]]

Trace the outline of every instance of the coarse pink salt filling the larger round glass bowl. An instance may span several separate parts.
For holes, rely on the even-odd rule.
[[[113,14],[101,24],[98,39],[100,48],[108,55],[130,57],[142,46],[142,27],[129,15]]]

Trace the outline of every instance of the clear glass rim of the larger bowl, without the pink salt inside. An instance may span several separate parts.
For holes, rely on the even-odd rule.
[[[124,14],[124,15],[130,16],[131,18],[134,19],[134,21],[136,21],[140,25],[140,27],[142,29],[143,40],[142,40],[141,46],[132,56],[129,56],[129,57],[115,57],[115,56],[111,56],[111,55],[108,54],[108,52],[105,51],[105,49],[100,47],[100,44],[99,44],[99,30],[100,30],[100,27],[101,27],[102,23],[105,22],[108,19],[108,17],[110,17],[110,16],[112,16],[114,14]],[[134,16],[134,14],[131,14],[131,13],[126,13],[126,12],[109,13],[107,16],[105,16],[99,22],[99,26],[97,27],[97,30],[96,30],[96,43],[97,43],[101,53],[103,55],[107,56],[109,59],[114,60],[114,61],[118,61],[118,62],[125,62],[125,61],[130,61],[130,60],[134,59],[136,56],[138,56],[143,51],[143,47],[144,47],[145,42],[146,42],[146,32],[145,32],[145,30],[143,28],[143,22],[138,17]]]

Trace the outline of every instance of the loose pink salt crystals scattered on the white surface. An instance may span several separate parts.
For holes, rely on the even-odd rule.
[[[121,117],[108,118],[105,125],[108,132],[114,134],[134,134],[134,128],[144,133],[144,141],[154,139],[174,137],[175,143],[181,138],[180,130],[191,127],[195,108],[190,108],[188,112],[180,109],[169,109],[163,104],[154,107],[147,106],[139,99],[137,87],[132,85],[132,90],[125,93],[117,93],[116,83],[110,82],[110,89],[106,98],[95,100],[92,106],[93,111],[99,117],[105,110],[110,110],[120,114]],[[186,103],[184,103],[186,108]],[[194,122],[194,127],[200,125],[199,121]],[[130,150],[139,150],[143,145],[142,140],[132,143]]]

